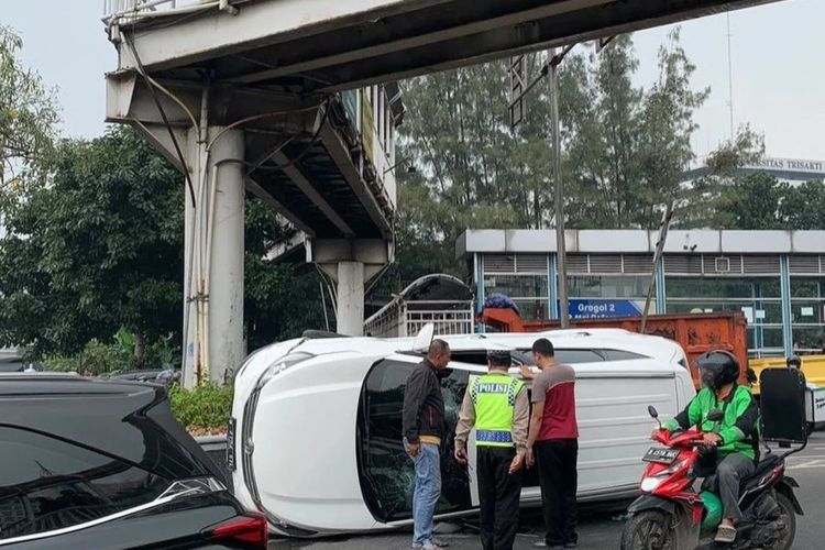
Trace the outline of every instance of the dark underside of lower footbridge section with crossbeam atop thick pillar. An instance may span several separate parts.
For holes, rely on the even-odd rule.
[[[377,183],[338,97],[241,90],[219,81],[212,81],[204,97],[202,80],[155,76],[179,103],[160,91],[153,97],[134,73],[111,74],[107,120],[135,125],[189,173],[196,172],[195,161],[185,158],[186,167],[182,163],[155,99],[184,153],[190,152],[182,145],[188,129],[199,125],[201,118],[222,128],[246,121],[239,128],[244,134],[244,179],[250,193],[310,238],[392,237],[392,199]]]

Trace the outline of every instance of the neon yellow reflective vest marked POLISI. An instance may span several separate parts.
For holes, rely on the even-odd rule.
[[[475,408],[476,447],[513,447],[513,413],[524,382],[506,374],[485,374],[470,386]]]

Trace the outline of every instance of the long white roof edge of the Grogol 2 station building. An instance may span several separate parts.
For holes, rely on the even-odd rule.
[[[652,254],[659,231],[572,229],[564,232],[573,254]],[[469,229],[455,242],[457,257],[481,254],[554,253],[553,229]],[[670,254],[825,254],[825,231],[684,230],[668,232]]]

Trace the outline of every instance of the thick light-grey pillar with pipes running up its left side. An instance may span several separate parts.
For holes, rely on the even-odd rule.
[[[215,140],[222,128],[210,127]],[[185,238],[184,383],[224,382],[241,366],[243,343],[244,158],[243,132],[230,130],[218,138],[202,176],[202,153],[197,135],[189,136],[194,167],[195,206],[187,189]],[[195,143],[195,145],[193,145]],[[190,265],[194,267],[189,277]],[[190,280],[191,279],[191,280]],[[199,350],[204,350],[201,355]]]

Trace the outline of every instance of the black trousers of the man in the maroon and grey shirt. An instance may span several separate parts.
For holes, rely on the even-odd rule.
[[[579,440],[537,441],[534,453],[539,469],[541,507],[547,528],[544,542],[548,547],[579,542],[579,535],[575,532]]]

